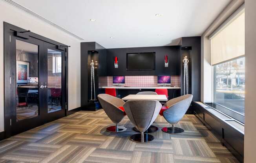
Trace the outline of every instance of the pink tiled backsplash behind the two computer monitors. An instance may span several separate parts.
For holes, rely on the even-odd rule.
[[[171,76],[171,86],[180,87],[180,76]],[[125,76],[125,85],[130,87],[157,87],[157,76]],[[112,76],[101,76],[99,87],[113,86]]]

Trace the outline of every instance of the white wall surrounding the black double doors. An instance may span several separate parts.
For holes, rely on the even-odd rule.
[[[63,18],[63,21],[66,21]],[[51,25],[0,1],[0,132],[4,131],[4,38],[3,22],[31,30],[60,43],[70,45],[68,58],[68,109],[80,107],[80,41]]]

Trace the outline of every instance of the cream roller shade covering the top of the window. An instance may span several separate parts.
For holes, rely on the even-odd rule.
[[[245,13],[238,15],[212,39],[212,65],[245,55]]]

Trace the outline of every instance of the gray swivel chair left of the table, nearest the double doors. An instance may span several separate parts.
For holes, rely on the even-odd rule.
[[[110,120],[115,123],[115,126],[110,126],[106,130],[108,132],[125,131],[126,127],[118,125],[118,123],[123,120],[124,116],[126,115],[123,108],[124,101],[109,94],[99,94],[98,99]]]

